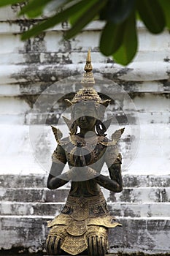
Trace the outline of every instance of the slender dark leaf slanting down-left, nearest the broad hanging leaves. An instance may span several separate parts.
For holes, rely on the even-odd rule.
[[[98,11],[104,7],[105,2],[101,0],[93,0],[93,5],[77,20],[71,29],[66,31],[65,38],[69,39],[78,34],[93,18],[98,14]]]

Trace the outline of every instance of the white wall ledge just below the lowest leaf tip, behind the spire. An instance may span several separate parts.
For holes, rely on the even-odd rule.
[[[163,61],[133,62],[127,67],[118,64],[95,64],[94,76],[98,74],[108,77],[112,81],[155,81],[168,80],[170,63]],[[37,83],[43,81],[45,74],[48,75],[46,82],[55,83],[56,80],[69,78],[70,76],[82,75],[84,64],[30,64],[30,65],[1,65],[1,84],[7,83]],[[104,78],[103,78],[104,79]]]

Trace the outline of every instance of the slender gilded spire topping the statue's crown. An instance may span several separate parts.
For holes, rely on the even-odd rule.
[[[95,83],[95,80],[93,78],[93,67],[91,64],[91,55],[90,55],[90,49],[88,50],[88,56],[86,59],[86,64],[85,64],[85,73],[83,74],[83,78],[81,80],[81,83],[83,84],[84,87],[91,87]]]

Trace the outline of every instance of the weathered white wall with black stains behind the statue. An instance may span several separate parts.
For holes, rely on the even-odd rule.
[[[63,111],[68,115],[57,99],[80,87],[90,47],[96,89],[112,98],[109,136],[125,127],[120,142],[125,188],[118,195],[104,190],[110,211],[123,223],[110,232],[110,251],[170,253],[169,32],[152,36],[139,24],[136,59],[121,67],[98,52],[102,23],[91,23],[69,41],[62,39],[64,23],[21,42],[20,31],[30,23],[17,20],[18,8],[0,10],[0,248],[42,249],[46,220],[66,200],[69,187],[45,188],[55,148],[50,124]],[[65,135],[61,118],[59,123]]]

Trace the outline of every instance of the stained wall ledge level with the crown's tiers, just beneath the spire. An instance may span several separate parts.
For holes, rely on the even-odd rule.
[[[109,90],[109,95],[112,94],[131,94],[133,96],[133,98],[135,96],[142,96],[142,98],[144,98],[147,95],[152,94],[152,96],[159,96],[161,94],[164,94],[165,96],[167,94],[170,93],[170,84],[167,85],[168,82],[166,81],[144,81],[144,82],[134,82],[131,83],[130,85],[128,84],[128,82],[122,82],[122,81],[117,81],[114,82],[114,80],[110,80],[110,84],[109,81],[102,85],[98,84],[98,76],[101,76],[101,74],[98,73],[94,73],[94,77],[96,78],[96,85],[94,86],[96,88],[96,90],[99,92],[101,91],[101,93],[108,92]],[[104,74],[103,74],[104,75]],[[107,75],[107,74],[105,74]],[[70,85],[69,86],[69,90],[72,90],[72,92],[75,91],[74,89],[74,83],[75,83],[75,79],[72,78],[72,80],[70,80]],[[102,77],[101,77],[101,81],[102,81]],[[0,82],[1,83],[1,82]],[[51,83],[49,85],[49,83]],[[115,83],[117,83],[115,85]],[[43,86],[42,86],[43,84]],[[55,88],[54,88],[55,86]],[[62,86],[62,80],[58,80],[57,82],[47,82],[47,81],[39,81],[36,82],[34,81],[33,83],[31,83],[28,81],[23,81],[21,82],[13,82],[13,83],[2,83],[0,86],[0,97],[20,97],[20,96],[28,96],[28,97],[34,97],[34,95],[39,95],[42,94],[43,95],[54,95],[54,94],[58,94],[58,91],[60,92],[60,94],[66,94],[66,91],[68,91],[68,86]],[[71,91],[70,91],[71,92]],[[130,95],[130,97],[131,97]]]

